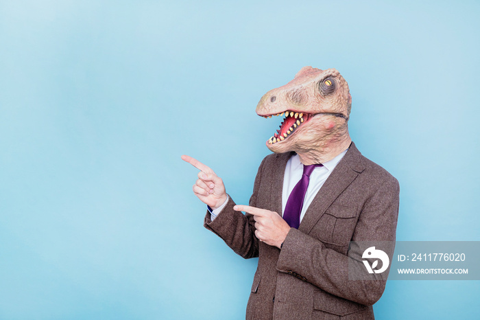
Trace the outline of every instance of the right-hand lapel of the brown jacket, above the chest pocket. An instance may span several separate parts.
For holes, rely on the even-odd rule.
[[[326,209],[328,209],[341,192],[355,180],[359,172],[363,171],[360,161],[361,154],[352,142],[344,158],[337,164],[333,172],[328,176],[328,179],[326,179],[324,185],[322,185],[315,195],[315,198],[313,198],[311,205],[307,209],[307,212],[305,212],[305,216],[298,227],[300,231],[309,233],[325,213]]]

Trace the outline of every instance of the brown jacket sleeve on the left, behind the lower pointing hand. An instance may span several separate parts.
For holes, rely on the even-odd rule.
[[[259,192],[261,173],[265,159],[263,159],[259,171],[256,174],[252,196],[249,205],[256,206],[256,196]],[[219,212],[214,220],[211,220],[210,212],[204,218],[204,227],[213,231],[235,253],[241,257],[256,258],[259,256],[259,239],[255,236],[255,221],[251,214],[242,214],[233,209],[235,202],[228,196],[228,202],[224,209]]]

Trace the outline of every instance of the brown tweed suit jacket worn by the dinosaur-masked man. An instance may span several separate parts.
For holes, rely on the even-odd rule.
[[[250,205],[282,212],[285,165],[293,152],[268,155],[256,175]],[[243,258],[259,257],[247,319],[374,319],[385,281],[348,279],[350,241],[394,241],[398,181],[351,144],[282,249],[254,236],[254,220],[230,197],[204,225]]]

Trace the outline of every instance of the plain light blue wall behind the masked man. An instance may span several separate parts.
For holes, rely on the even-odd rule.
[[[479,239],[477,1],[0,1],[0,318],[243,319],[256,260],[202,227],[248,203],[305,65],[400,181],[398,240]],[[377,319],[473,319],[478,281],[391,281]]]

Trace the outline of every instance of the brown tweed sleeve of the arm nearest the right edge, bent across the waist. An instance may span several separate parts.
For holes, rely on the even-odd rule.
[[[380,185],[363,205],[352,241],[395,241],[398,194],[398,181],[393,177]],[[393,249],[388,254],[392,256]],[[386,275],[379,280],[349,280],[349,262],[361,264],[292,228],[280,251],[277,270],[296,273],[332,295],[371,306],[385,290]]]

